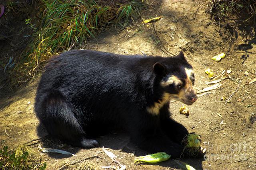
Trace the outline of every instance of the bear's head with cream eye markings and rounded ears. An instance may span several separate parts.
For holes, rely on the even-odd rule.
[[[174,57],[154,63],[153,70],[159,79],[159,90],[164,98],[174,98],[187,105],[196,102],[194,72],[182,51]]]

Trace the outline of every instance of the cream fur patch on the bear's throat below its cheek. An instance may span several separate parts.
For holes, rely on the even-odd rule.
[[[160,109],[170,101],[171,94],[164,93],[161,100],[158,100],[158,102],[155,102],[153,106],[147,107],[147,111],[151,113],[152,115],[158,115],[160,112]]]

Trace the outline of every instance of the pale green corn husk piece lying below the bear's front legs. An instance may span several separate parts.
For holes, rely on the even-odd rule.
[[[154,154],[148,154],[145,156],[139,156],[134,158],[134,163],[143,163],[143,162],[149,162],[149,163],[157,163],[162,162],[165,160],[170,159],[171,155],[167,154],[166,152],[158,152]]]

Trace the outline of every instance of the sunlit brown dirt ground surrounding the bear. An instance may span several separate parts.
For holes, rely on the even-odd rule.
[[[256,78],[256,46],[254,44],[256,39],[247,41],[240,35],[239,30],[232,33],[230,30],[218,27],[218,24],[214,24],[210,16],[204,13],[204,5],[194,0],[156,0],[152,3],[152,8],[145,11],[145,14],[148,14],[148,18],[155,15],[162,16],[161,20],[155,23],[158,36],[170,53],[177,54],[181,50],[184,51],[188,61],[194,67],[197,90],[208,86],[205,84],[209,81],[204,73],[206,68],[211,68],[215,75],[221,74],[223,70],[231,70],[229,74],[231,78],[221,81],[220,88],[199,97],[194,105],[188,106],[190,110],[188,118],[178,113],[179,108],[184,104],[171,103],[172,117],[182,123],[188,131],[200,134],[202,146],[207,149],[206,160],[185,159],[183,161],[198,170],[255,169],[256,83],[243,85]],[[98,43],[88,41],[88,49],[118,54],[168,57],[158,46],[164,49],[152,25],[146,26],[140,22],[121,31],[113,30],[102,33],[98,36]],[[226,53],[226,58],[220,62],[212,61],[212,57],[220,53]],[[244,75],[245,71],[249,72],[248,76]],[[0,139],[4,140],[6,145],[15,147],[47,135],[43,127],[39,126],[33,111],[38,81],[39,78],[35,78],[16,92],[6,94],[2,91],[0,93],[2,94],[0,97]],[[226,100],[221,101],[221,97]],[[228,98],[230,102],[226,103]],[[103,169],[100,167],[116,166],[102,152],[104,146],[116,154],[119,161],[129,170],[179,169],[172,159],[153,165],[134,165],[136,155],[147,153],[130,144],[129,137],[125,133],[112,132],[98,137],[97,140],[100,142],[99,148],[79,149],[68,146],[61,148],[76,156],[53,153],[41,153],[41,156],[43,160],[49,159],[47,169],[52,170],[60,168],[65,163],[70,164],[95,155],[99,157],[86,160],[87,168],[90,166],[90,168]],[[37,149],[39,142],[32,141],[31,147]],[[58,148],[59,144],[46,141],[42,145]],[[68,166],[66,169],[77,169],[77,167]]]

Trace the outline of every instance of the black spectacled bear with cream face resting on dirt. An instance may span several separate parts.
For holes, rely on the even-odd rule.
[[[182,52],[153,57],[67,51],[46,64],[35,112],[49,135],[76,147],[98,147],[88,134],[112,122],[143,150],[187,157],[182,140],[188,131],[170,118],[169,102],[193,104],[194,80]]]

